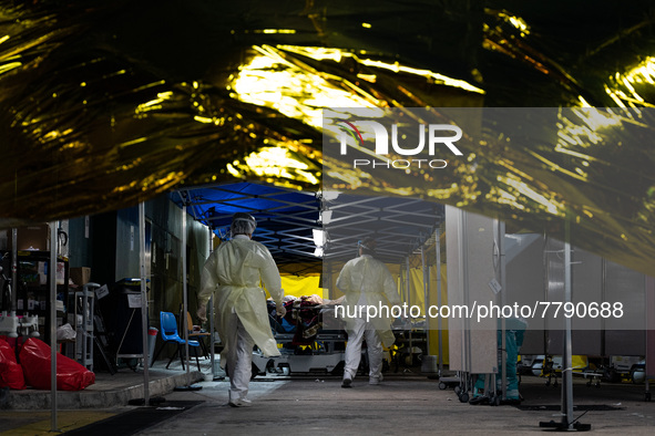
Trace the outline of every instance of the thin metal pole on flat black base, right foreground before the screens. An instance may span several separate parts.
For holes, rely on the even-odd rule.
[[[571,222],[565,221],[564,235],[564,304],[571,303]],[[573,357],[571,343],[571,318],[564,316],[564,355],[562,368],[562,428],[573,429]]]

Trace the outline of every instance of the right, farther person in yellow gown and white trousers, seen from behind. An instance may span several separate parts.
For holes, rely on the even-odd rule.
[[[382,344],[390,347],[395,336],[390,330],[391,319],[387,313],[367,316],[372,312],[367,307],[375,307],[379,311],[382,307],[400,304],[400,297],[396,282],[389,269],[375,259],[376,242],[366,238],[359,243],[359,257],[349,260],[337,279],[337,288],[344,294],[344,322],[348,332],[346,345],[346,365],[341,387],[351,387],[352,378],[357,374],[361,359],[361,343],[366,339],[369,360],[369,383],[379,384],[382,380]],[[364,310],[358,310],[365,308]]]

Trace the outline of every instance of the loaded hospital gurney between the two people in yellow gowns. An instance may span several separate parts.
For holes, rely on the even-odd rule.
[[[287,301],[287,314],[282,319],[275,315],[275,303],[269,301],[267,309],[282,355],[266,357],[253,352],[253,372],[256,367],[258,374],[342,374],[346,333],[334,316],[334,305]]]

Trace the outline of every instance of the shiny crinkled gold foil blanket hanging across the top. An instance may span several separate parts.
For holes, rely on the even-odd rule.
[[[555,235],[570,219],[580,247],[652,273],[647,112],[591,133],[562,118],[552,143],[491,127],[443,178],[410,172],[385,186],[324,162],[320,125],[323,107],[652,107],[654,25],[641,3],[2,0],[0,227],[235,179],[316,190],[326,164],[359,194],[418,195]]]

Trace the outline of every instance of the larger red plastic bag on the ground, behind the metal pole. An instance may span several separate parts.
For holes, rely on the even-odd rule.
[[[20,364],[28,384],[38,390],[50,390],[50,346],[30,338],[20,351]],[[95,374],[62,354],[57,355],[58,391],[81,391],[95,383]]]

